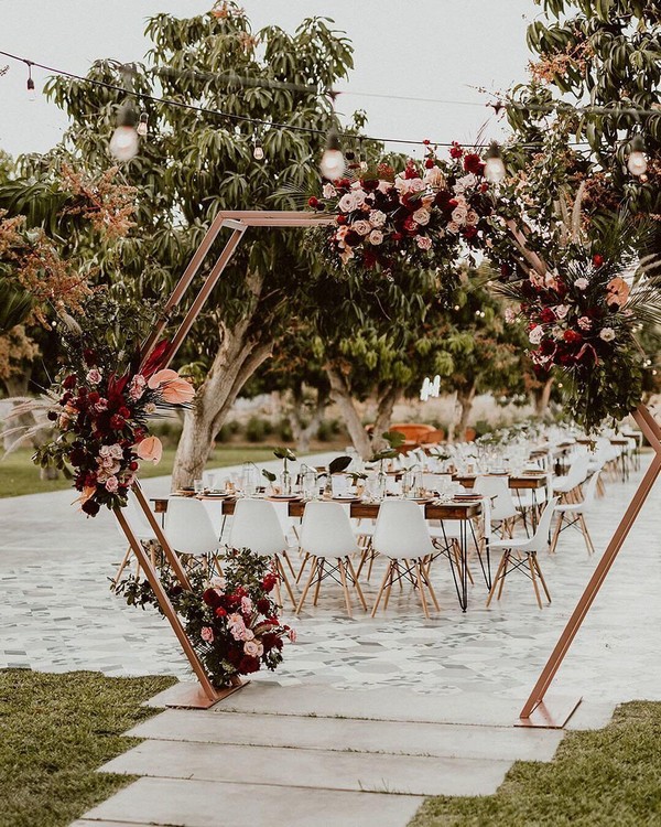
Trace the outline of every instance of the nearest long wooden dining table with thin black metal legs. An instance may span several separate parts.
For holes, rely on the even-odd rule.
[[[178,496],[173,494],[172,496]],[[195,495],[199,500],[206,502],[218,503],[221,506],[224,518],[230,517],[236,508],[237,498],[234,496],[219,497],[213,494],[198,494]],[[264,497],[266,500],[273,502],[274,504],[284,504],[288,506],[288,516],[293,519],[301,519],[305,512],[305,503],[301,497],[292,497],[283,500],[279,497]],[[165,515],[167,511],[169,497],[152,497],[151,502],[154,504],[154,512],[156,514]],[[366,502],[361,500],[347,501],[337,498],[332,502],[339,502],[346,505],[349,509],[349,516],[353,519],[376,519],[379,516],[379,502]],[[483,577],[487,589],[491,588],[491,566],[489,556],[489,544],[485,544],[485,557],[483,558],[480,550],[480,541],[475,531],[475,522],[484,516],[484,507],[481,500],[452,500],[449,502],[441,503],[437,500],[416,501],[420,506],[424,509],[425,519],[440,520],[443,527],[444,520],[456,522],[459,526],[459,538],[457,540],[460,552],[460,567],[455,565],[453,555],[447,555],[449,560],[449,567],[454,580],[454,584],[457,591],[457,599],[462,611],[466,611],[468,608],[468,546],[469,536],[473,539],[477,557],[480,563]],[[444,530],[444,529],[443,529]],[[447,544],[447,539],[446,539]],[[442,554],[440,550],[438,554]]]

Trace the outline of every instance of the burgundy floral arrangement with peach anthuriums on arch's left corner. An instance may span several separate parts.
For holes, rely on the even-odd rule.
[[[99,315],[94,315],[95,310]],[[76,323],[63,330],[65,364],[40,402],[47,409],[55,438],[33,458],[43,468],[54,465],[65,472],[73,468],[74,487],[80,492],[77,502],[90,517],[101,506],[124,507],[140,462],[161,460],[163,445],[150,436],[150,417],[187,407],[195,395],[175,370],[158,369],[166,341],[142,364],[139,346],[118,348],[105,340],[109,311],[117,314],[120,330],[123,324],[130,330],[121,310],[99,303],[98,297],[88,302],[80,318],[85,329]],[[96,342],[91,329],[98,332]]]

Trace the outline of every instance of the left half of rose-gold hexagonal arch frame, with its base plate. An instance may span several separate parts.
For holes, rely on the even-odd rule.
[[[152,332],[143,343],[143,358],[141,367],[150,357],[156,342],[159,341],[167,325],[172,311],[180,304],[184,296],[187,293],[188,288],[193,283],[193,280],[195,279],[195,276],[197,275],[207,254],[209,253],[212,245],[224,227],[230,229],[231,235],[225,244],[225,247],[223,248],[220,255],[216,259],[216,262],[206,277],[199,291],[197,292],[197,296],[193,300],[193,303],[186,312],[186,315],[184,316],[184,320],[180,324],[177,331],[175,332],[170,346],[163,354],[163,357],[161,358],[159,364],[160,368],[167,367],[167,365],[174,358],[176,352],[191,331],[191,327],[193,326],[195,320],[199,315],[199,312],[202,311],[206,300],[209,298],[212,290],[216,286],[216,282],[218,281],[218,279],[223,275],[223,271],[234,256],[241,238],[243,237],[243,233],[248,227],[314,227],[324,224],[332,224],[334,221],[335,216],[333,215],[305,212],[240,211],[218,213],[212,222],[209,229],[202,239],[199,247],[193,255],[191,262],[186,267],[172,294],[165,302],[163,312],[154,324]],[[149,507],[149,503],[147,502],[144,494],[142,493],[142,488],[140,487],[140,484],[138,482],[136,482],[133,485],[133,493],[136,494],[138,504],[140,505],[140,508],[142,509],[144,516],[147,517],[156,539],[163,548],[163,554],[171,565],[177,580],[180,581],[182,587],[189,588],[188,578],[181,565],[178,556],[167,543],[167,539],[163,534],[163,530],[161,529],[161,526],[159,525],[154,513]],[[167,593],[163,588],[163,583],[161,582],[159,572],[152,566],[149,555],[145,554],[142,544],[140,543],[133,529],[129,525],[127,518],[122,514],[121,508],[115,509],[115,516],[117,517],[117,520],[122,531],[124,533],[133,554],[138,558],[138,562],[144,571],[150,586],[154,590],[156,600],[159,601],[159,605],[161,606],[163,614],[172,626],[172,630],[176,635],[181,647],[188,658],[193,672],[195,673],[199,681],[198,686],[187,686],[186,684],[176,685],[165,692],[162,692],[159,696],[160,701],[165,704],[165,706],[206,709],[214,704],[217,704],[219,700],[227,697],[237,689],[240,689],[241,686],[245,686],[246,684],[239,679],[237,679],[228,689],[218,690],[216,689],[216,687],[214,687],[214,685],[209,680],[208,675],[206,674],[204,665],[202,664],[193,644],[191,643],[189,637],[186,634],[184,626],[182,625],[181,620],[177,617],[177,614],[174,611],[172,603],[170,602],[170,598],[167,597]]]

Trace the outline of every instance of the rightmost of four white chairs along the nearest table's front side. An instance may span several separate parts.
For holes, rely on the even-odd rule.
[[[392,583],[395,579],[401,581],[403,578],[409,579],[418,588],[425,617],[430,616],[425,588],[438,611],[438,601],[429,578],[427,567],[427,561],[436,548],[420,506],[408,500],[383,501],[379,508],[372,544],[378,554],[389,558],[371,612],[372,617],[383,595],[383,609],[388,609]]]

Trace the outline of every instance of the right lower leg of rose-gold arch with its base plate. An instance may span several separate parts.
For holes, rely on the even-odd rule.
[[[581,699],[570,700],[566,698],[546,699],[546,691],[551,686],[553,678],[555,677],[565,655],[570,651],[570,647],[576,636],[583,621],[585,620],[589,609],[597,597],[599,589],[602,588],[610,567],[615,562],[615,559],[622,547],[622,544],[627,539],[627,536],[635,524],[640,509],[644,505],[659,473],[661,472],[661,427],[654,420],[649,408],[644,405],[640,405],[635,414],[633,419],[639,426],[642,433],[647,437],[649,443],[654,449],[655,455],[652,460],[649,469],[644,476],[640,481],[640,484],[633,494],[631,502],[624,517],[621,518],[618,527],[615,529],[610,543],[604,551],[604,556],[599,560],[597,568],[593,572],[589,582],[585,587],[585,591],[581,595],[576,608],[572,612],[572,616],[567,621],[560,640],[555,644],[555,648],[551,653],[546,665],[542,669],[534,688],[532,689],[528,700],[525,701],[521,712],[519,713],[519,726],[523,727],[563,727],[568,718],[574,713],[574,710],[581,702]]]

